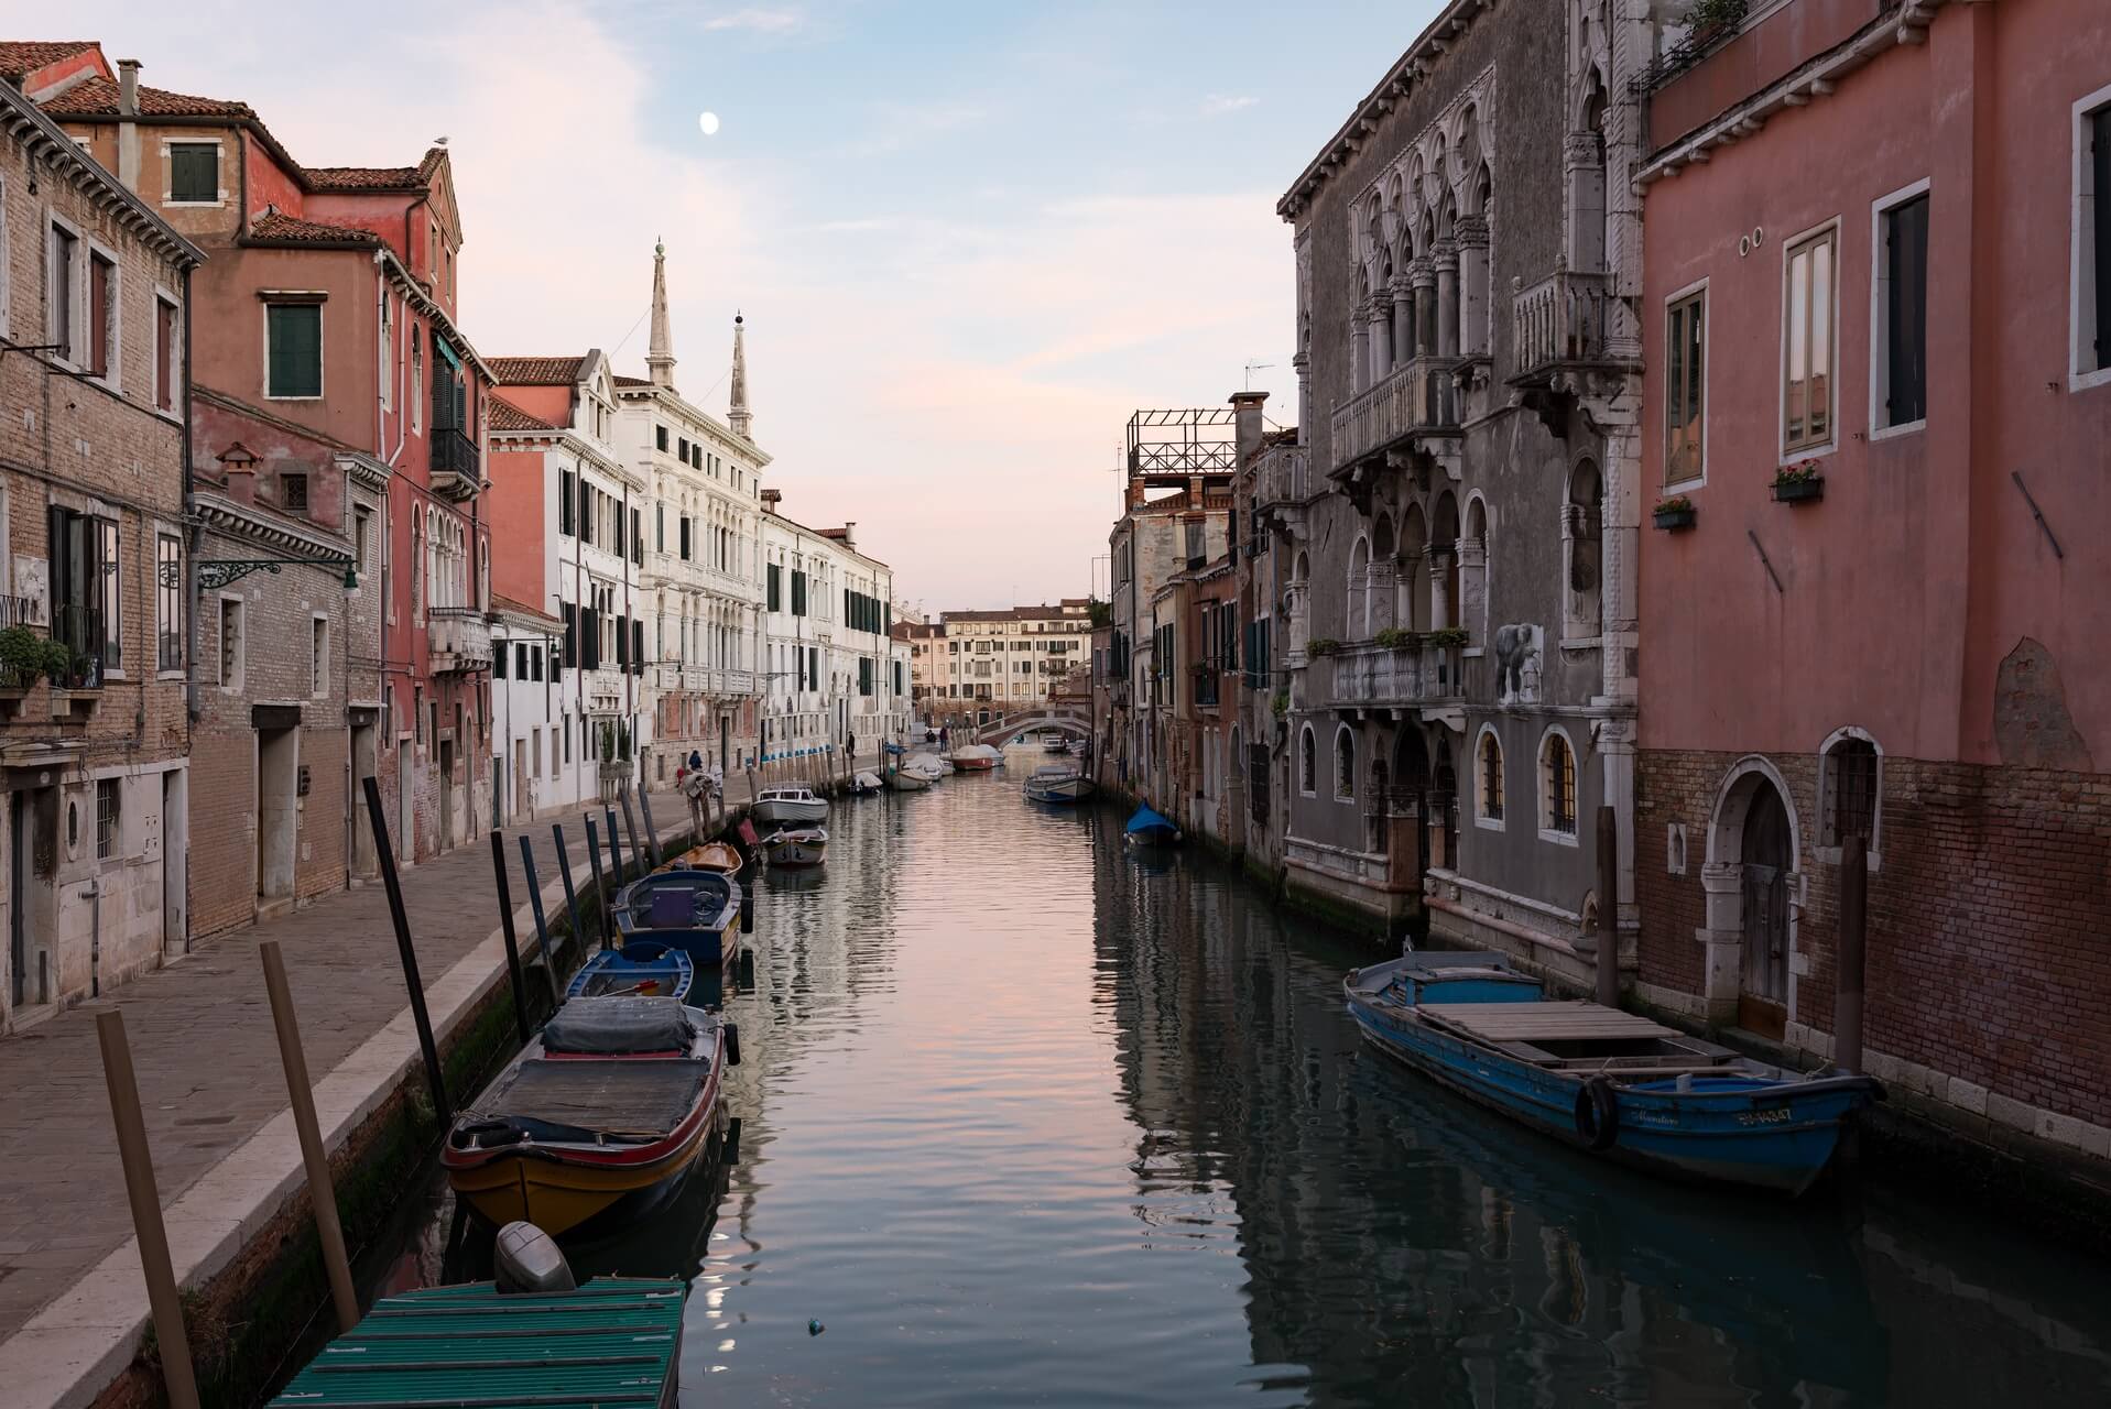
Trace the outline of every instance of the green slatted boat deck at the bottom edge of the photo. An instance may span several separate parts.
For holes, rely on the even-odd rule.
[[[595,1276],[566,1291],[469,1282],[380,1297],[293,1375],[270,1409],[673,1409],[686,1295],[680,1278]]]

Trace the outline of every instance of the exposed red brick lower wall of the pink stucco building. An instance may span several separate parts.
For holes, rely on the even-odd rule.
[[[1697,996],[1701,865],[1729,753],[1644,751],[1636,780],[1640,979]],[[1790,1023],[1832,1031],[1839,865],[1818,848],[1818,759],[1790,787],[1803,909]],[[1666,827],[1687,829],[1685,875]],[[2111,776],[1883,759],[1868,877],[1868,1050],[1995,1097],[2111,1124]]]

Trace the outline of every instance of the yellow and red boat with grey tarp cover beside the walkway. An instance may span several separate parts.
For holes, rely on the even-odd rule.
[[[739,1031],[673,998],[574,998],[454,1118],[439,1162],[492,1223],[578,1228],[686,1173]]]

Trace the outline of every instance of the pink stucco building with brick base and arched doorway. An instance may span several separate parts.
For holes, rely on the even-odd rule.
[[[1642,996],[2111,1156],[2111,6],[1756,0],[1647,76]],[[1682,513],[1691,508],[1691,513]]]

